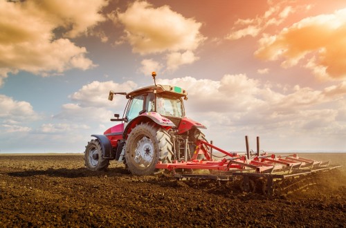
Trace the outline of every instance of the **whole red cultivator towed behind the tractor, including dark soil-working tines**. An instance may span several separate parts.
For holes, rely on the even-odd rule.
[[[185,162],[158,163],[156,169],[167,169],[179,180],[190,178],[219,181],[239,181],[243,191],[273,195],[275,191],[290,193],[314,184],[313,173],[330,171],[340,166],[329,161],[321,162],[301,158],[297,154],[275,155],[260,153],[260,139],[257,137],[257,153],[249,151],[246,136],[246,153],[229,153],[206,141],[199,140],[192,158]],[[224,154],[222,160],[212,160],[212,151]],[[203,160],[197,160],[204,155]],[[204,170],[201,172],[201,170]],[[304,177],[304,178],[302,178]],[[310,177],[310,178],[307,178]],[[312,180],[312,181],[311,181]],[[277,183],[277,184],[276,184]]]

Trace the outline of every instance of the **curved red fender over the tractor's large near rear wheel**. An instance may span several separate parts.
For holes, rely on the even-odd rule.
[[[126,139],[129,130],[133,129],[137,124],[140,124],[141,122],[154,122],[160,126],[165,127],[166,129],[170,129],[175,126],[175,124],[172,121],[168,120],[167,118],[163,117],[158,113],[143,113],[138,115],[138,117],[134,118],[134,120],[131,120],[129,124],[127,124],[124,132],[122,133],[122,137]]]

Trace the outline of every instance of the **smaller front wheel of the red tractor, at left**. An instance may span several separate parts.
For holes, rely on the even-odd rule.
[[[102,171],[108,168],[109,160],[103,158],[102,146],[98,140],[91,140],[85,146],[84,164],[91,171]]]

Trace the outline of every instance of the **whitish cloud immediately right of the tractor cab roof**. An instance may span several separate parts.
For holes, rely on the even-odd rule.
[[[259,81],[249,79],[244,74],[224,75],[220,81],[183,77],[158,79],[158,83],[184,88],[188,91],[188,97],[193,100],[192,107],[197,112],[242,111],[246,106],[253,106],[260,101],[256,98]]]

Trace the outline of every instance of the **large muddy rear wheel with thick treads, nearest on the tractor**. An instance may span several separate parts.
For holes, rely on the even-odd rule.
[[[134,175],[152,175],[155,165],[172,161],[173,144],[167,131],[154,124],[141,123],[132,129],[125,145],[125,160]]]

